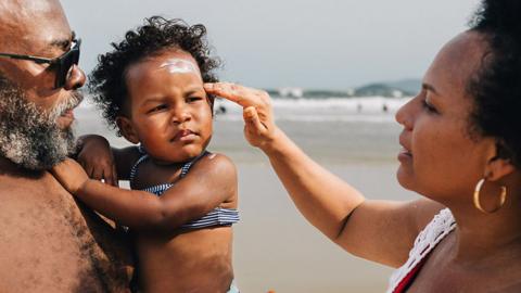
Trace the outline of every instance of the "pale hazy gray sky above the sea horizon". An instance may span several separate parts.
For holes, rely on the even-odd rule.
[[[84,40],[81,65],[161,14],[206,25],[224,80],[253,87],[345,89],[421,78],[466,29],[479,0],[62,0]]]

